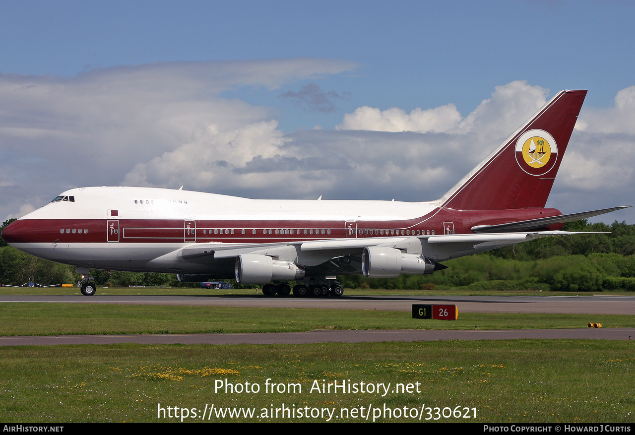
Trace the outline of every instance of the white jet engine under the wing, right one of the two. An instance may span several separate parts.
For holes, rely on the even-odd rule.
[[[368,246],[361,255],[361,271],[368,278],[424,275],[434,272],[434,262],[423,255],[403,253],[385,246]]]

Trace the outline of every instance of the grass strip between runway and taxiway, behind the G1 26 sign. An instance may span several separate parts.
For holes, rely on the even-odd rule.
[[[296,332],[368,329],[543,329],[635,325],[634,316],[460,313],[456,321],[406,311],[116,304],[0,304],[0,335]]]

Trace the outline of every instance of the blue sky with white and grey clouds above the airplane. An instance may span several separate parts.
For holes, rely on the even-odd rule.
[[[0,217],[91,184],[436,199],[565,88],[589,89],[586,127],[549,205],[635,203],[630,2],[0,6]],[[363,107],[410,132],[362,131]],[[409,117],[439,107],[434,128]]]

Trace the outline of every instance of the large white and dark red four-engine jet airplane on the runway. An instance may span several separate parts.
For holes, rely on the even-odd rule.
[[[247,199],[182,189],[70,189],[8,225],[4,240],[90,269],[171,272],[181,281],[236,279],[264,295],[340,297],[336,275],[431,274],[451,258],[578,232],[544,208],[587,91],[555,95],[436,201]],[[536,153],[536,145],[540,144]]]

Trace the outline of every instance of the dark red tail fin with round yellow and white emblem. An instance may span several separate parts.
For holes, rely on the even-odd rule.
[[[587,91],[560,91],[441,199],[456,210],[542,208]]]

